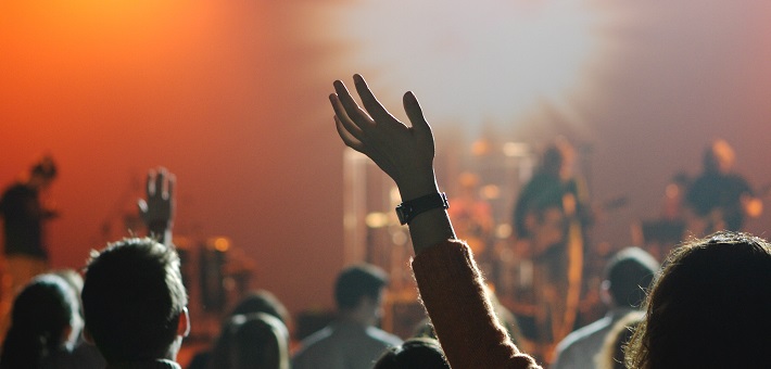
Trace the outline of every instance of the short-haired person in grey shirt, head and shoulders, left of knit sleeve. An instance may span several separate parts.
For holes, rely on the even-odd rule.
[[[337,319],[301,343],[294,369],[369,368],[388,347],[402,343],[375,327],[388,278],[372,265],[344,269],[334,284]]]

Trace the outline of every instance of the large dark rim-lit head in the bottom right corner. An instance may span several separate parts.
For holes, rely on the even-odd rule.
[[[632,368],[771,368],[771,245],[718,232],[675,249],[627,353]]]

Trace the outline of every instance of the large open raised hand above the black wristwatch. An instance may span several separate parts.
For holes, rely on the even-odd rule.
[[[353,77],[364,109],[342,81],[334,81],[329,100],[338,133],[345,144],[372,160],[399,187],[403,200],[437,192],[431,127],[412,92],[404,94],[404,111],[412,124],[394,118],[375,98],[364,78]]]

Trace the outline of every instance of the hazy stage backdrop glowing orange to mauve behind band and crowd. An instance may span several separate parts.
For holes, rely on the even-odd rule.
[[[78,268],[129,234],[147,170],[166,166],[184,247],[227,238],[250,287],[329,309],[368,238],[343,227],[361,183],[327,96],[361,73],[397,113],[416,92],[451,196],[475,157],[568,137],[592,198],[629,199],[592,231],[619,249],[716,138],[757,191],[771,183],[769,20],[762,0],[2,1],[0,184],[54,157],[52,264]],[[497,190],[508,224],[517,188]]]

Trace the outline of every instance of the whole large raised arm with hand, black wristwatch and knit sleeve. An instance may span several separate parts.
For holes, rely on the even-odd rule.
[[[403,201],[397,215],[409,225],[416,254],[413,271],[447,362],[455,369],[536,368],[501,327],[468,245],[455,237],[434,176],[433,133],[417,99],[404,96],[407,127],[377,101],[362,76],[354,82],[364,109],[340,80],[329,97],[338,133],[396,182]]]

